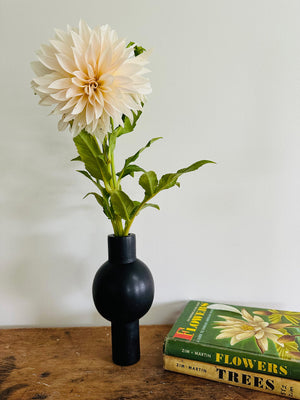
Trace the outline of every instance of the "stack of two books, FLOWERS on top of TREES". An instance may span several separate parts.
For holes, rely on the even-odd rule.
[[[300,399],[300,313],[190,301],[165,338],[164,368]]]

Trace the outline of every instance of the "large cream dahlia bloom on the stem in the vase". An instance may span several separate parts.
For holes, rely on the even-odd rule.
[[[55,33],[32,63],[37,75],[32,86],[40,104],[55,106],[59,130],[70,126],[76,136],[85,129],[102,140],[111,118],[115,127],[123,125],[123,115],[132,121],[132,112],[141,110],[151,93],[144,77],[148,52],[135,57],[133,46],[108,25],[91,29],[80,21],[79,29]]]

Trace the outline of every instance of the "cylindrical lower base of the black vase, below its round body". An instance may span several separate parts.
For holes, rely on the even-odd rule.
[[[112,357],[117,365],[133,365],[140,359],[139,320],[112,322]]]

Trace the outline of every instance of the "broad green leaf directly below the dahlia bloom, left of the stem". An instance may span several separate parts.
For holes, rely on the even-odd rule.
[[[97,139],[93,135],[81,131],[73,140],[86,170],[96,179],[103,180],[103,175],[108,176],[109,172]]]

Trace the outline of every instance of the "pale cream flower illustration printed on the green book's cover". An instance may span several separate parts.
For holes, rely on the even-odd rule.
[[[219,317],[225,321],[216,321],[215,328],[221,329],[216,339],[231,338],[230,344],[233,346],[242,340],[254,337],[262,353],[268,350],[268,339],[281,346],[278,338],[282,336],[282,332],[278,329],[289,326],[289,324],[269,324],[257,315],[253,317],[245,309],[242,310],[243,320],[223,315]]]

